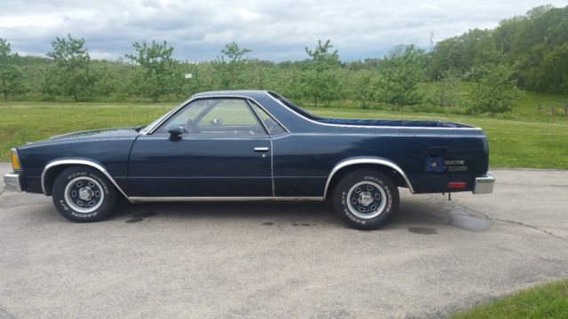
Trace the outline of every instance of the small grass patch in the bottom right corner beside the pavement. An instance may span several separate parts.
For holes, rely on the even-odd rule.
[[[452,318],[568,318],[568,280],[517,292]]]

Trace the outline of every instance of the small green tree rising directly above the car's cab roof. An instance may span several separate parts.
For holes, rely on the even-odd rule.
[[[217,85],[219,89],[242,88],[243,71],[247,66],[246,55],[252,51],[240,48],[237,43],[227,43],[221,50],[221,55],[213,61]]]

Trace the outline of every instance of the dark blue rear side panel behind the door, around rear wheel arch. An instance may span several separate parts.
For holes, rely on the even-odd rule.
[[[487,143],[480,130],[290,134],[273,139],[277,196],[322,196],[333,167],[345,159],[389,159],[408,176],[414,192],[447,191],[448,181],[465,182],[487,171]],[[444,160],[463,161],[466,170],[427,171],[431,150],[445,150]]]

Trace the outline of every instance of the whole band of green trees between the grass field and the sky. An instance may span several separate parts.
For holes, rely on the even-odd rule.
[[[0,86],[13,95],[75,101],[179,99],[209,89],[272,89],[313,105],[337,100],[363,107],[383,103],[461,106],[469,113],[511,110],[523,89],[568,94],[568,7],[539,7],[494,30],[471,30],[430,52],[399,45],[383,58],[342,63],[330,41],[305,48],[302,61],[250,58],[228,43],[210,62],[172,58],[168,43],[134,43],[118,61],[92,60],[84,39],[51,42],[49,58],[20,57],[0,39]],[[185,79],[184,74],[193,77]],[[431,82],[429,89],[421,89]],[[463,94],[463,88],[469,94]]]

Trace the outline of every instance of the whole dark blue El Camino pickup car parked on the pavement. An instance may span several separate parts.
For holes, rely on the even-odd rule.
[[[329,199],[375,230],[413,193],[493,191],[481,128],[321,118],[268,91],[193,96],[142,128],[53,136],[12,150],[8,189],[51,195],[73,222],[132,203]]]

